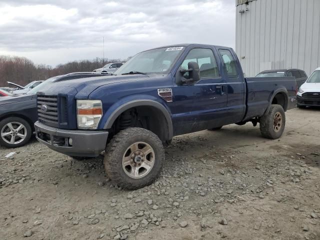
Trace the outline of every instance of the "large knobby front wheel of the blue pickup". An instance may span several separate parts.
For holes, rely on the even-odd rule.
[[[108,143],[104,154],[107,175],[120,187],[138,189],[151,184],[164,162],[164,148],[153,132],[126,128]]]

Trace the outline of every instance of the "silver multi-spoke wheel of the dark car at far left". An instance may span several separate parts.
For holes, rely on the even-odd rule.
[[[25,145],[31,137],[30,124],[20,117],[7,117],[0,121],[0,144],[9,148]]]

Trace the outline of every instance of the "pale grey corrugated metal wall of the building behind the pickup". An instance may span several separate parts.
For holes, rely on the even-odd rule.
[[[320,66],[320,0],[253,0],[236,7],[235,51],[246,76]]]

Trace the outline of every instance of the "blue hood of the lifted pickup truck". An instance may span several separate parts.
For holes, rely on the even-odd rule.
[[[134,75],[109,75],[109,76],[94,76],[86,78],[78,78],[67,81],[58,81],[49,84],[46,88],[41,89],[41,92],[46,94],[47,92],[53,92],[56,89],[61,88],[75,88],[77,93],[76,97],[80,99],[86,99],[88,95],[96,88],[119,82],[126,81],[139,81],[149,78],[148,75],[134,74]]]

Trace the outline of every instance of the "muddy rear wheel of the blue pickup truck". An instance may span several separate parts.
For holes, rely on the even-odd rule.
[[[269,111],[260,118],[260,132],[263,137],[279,138],[285,127],[285,113],[281,105],[272,104]]]

